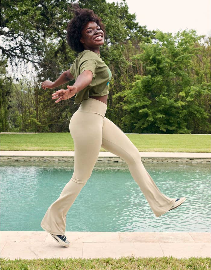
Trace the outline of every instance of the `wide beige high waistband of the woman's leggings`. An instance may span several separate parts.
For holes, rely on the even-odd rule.
[[[97,99],[84,99],[78,108],[78,111],[93,112],[105,116],[107,104]]]

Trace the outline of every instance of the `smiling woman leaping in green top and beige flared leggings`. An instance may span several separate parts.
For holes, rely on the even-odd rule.
[[[41,222],[41,227],[63,246],[69,246],[65,237],[67,212],[90,178],[101,147],[128,163],[132,177],[156,217],[178,207],[186,199],[169,198],[160,192],[144,168],[138,149],[105,117],[111,71],[100,57],[100,46],[104,44],[104,25],[92,10],[77,6],[74,12],[75,17],[68,24],[67,39],[70,47],[79,54],[70,70],[63,72],[55,82],[46,80],[42,83],[42,88],[46,89],[75,79],[73,86],[56,91],[52,99],[58,103],[76,94],[74,104],[80,104],[69,126],[74,140],[74,172]]]

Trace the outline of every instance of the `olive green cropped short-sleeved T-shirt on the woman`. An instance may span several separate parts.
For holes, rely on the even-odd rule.
[[[89,95],[105,96],[109,93],[112,74],[98,53],[84,50],[78,54],[70,68],[70,73],[76,80],[84,70],[92,71],[93,79],[87,87],[76,94],[74,104],[80,104],[84,99],[89,99]]]

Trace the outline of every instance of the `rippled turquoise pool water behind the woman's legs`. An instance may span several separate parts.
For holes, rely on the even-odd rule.
[[[67,214],[66,231],[210,231],[210,165],[148,163],[165,195],[187,200],[156,218],[123,162],[98,162]],[[1,162],[1,231],[43,231],[40,222],[73,162]]]

